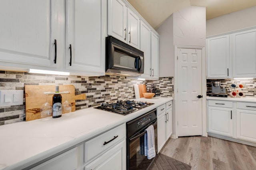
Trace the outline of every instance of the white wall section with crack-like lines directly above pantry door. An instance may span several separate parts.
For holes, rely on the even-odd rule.
[[[174,12],[174,45],[206,44],[206,8],[190,6]]]

